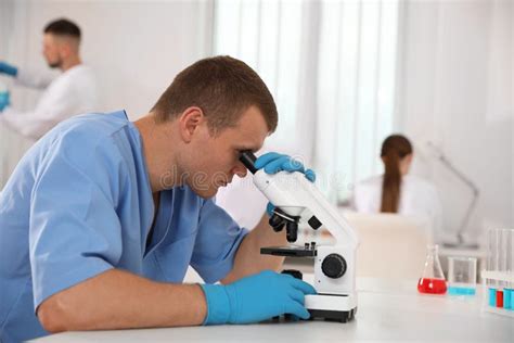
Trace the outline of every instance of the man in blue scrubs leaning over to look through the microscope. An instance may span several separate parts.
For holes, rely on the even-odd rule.
[[[246,174],[240,152],[257,151],[277,124],[259,76],[218,56],[181,72],[134,123],[119,111],[56,126],[0,195],[0,341],[308,318],[313,288],[259,254],[285,233],[267,215],[248,232],[213,201]],[[291,162],[270,153],[256,166],[312,176]],[[190,265],[205,284],[181,283]]]

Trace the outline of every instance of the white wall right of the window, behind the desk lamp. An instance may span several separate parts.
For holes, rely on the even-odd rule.
[[[479,188],[474,236],[514,226],[513,22],[510,0],[404,3],[400,117],[419,148],[413,172],[441,191],[448,231],[459,227],[472,194],[426,141]]]

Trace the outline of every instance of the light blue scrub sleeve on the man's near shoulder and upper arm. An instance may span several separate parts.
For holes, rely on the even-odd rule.
[[[35,308],[113,268],[121,255],[114,144],[89,141],[94,137],[57,140],[36,174],[29,221]]]

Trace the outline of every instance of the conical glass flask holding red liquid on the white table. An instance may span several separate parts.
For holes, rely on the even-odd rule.
[[[447,285],[439,262],[439,246],[427,245],[426,249],[425,267],[417,282],[417,291],[428,294],[445,294]]]

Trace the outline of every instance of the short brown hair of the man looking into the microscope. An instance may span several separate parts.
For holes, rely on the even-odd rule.
[[[157,123],[163,123],[190,106],[198,106],[209,130],[217,134],[235,126],[252,105],[260,110],[269,131],[273,132],[279,122],[277,105],[259,75],[240,60],[215,56],[180,72],[151,112]]]

